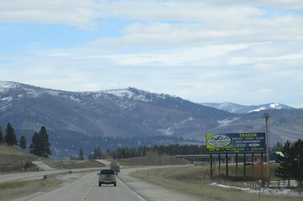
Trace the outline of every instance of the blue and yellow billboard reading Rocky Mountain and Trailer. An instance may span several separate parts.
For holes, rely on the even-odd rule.
[[[210,154],[264,153],[265,133],[206,134],[206,149]]]

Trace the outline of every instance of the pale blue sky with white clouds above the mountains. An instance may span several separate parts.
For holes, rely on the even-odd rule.
[[[303,3],[0,0],[0,80],[303,108]]]

